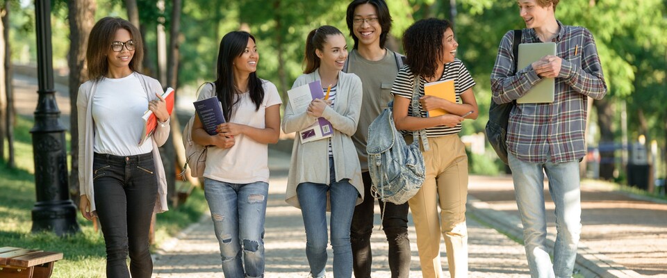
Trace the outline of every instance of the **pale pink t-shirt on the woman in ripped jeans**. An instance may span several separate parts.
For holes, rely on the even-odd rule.
[[[245,124],[258,129],[266,127],[265,110],[267,107],[282,103],[276,85],[262,80],[264,99],[256,110],[250,99],[249,92],[238,95],[240,100],[236,112],[229,122]],[[205,85],[199,94],[199,99],[213,97],[211,85]],[[234,136],[234,146],[229,149],[208,147],[206,155],[206,170],[204,177],[228,183],[254,183],[256,181],[269,182],[268,147],[244,135]]]

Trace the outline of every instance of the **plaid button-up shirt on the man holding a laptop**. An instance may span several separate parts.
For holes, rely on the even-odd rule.
[[[602,99],[607,93],[602,65],[593,35],[586,28],[558,22],[557,56],[563,59],[551,104],[517,104],[509,115],[507,149],[529,163],[563,163],[586,155],[587,97]],[[505,33],[491,72],[493,101],[504,104],[541,81],[531,65],[514,72],[514,32]],[[523,29],[521,43],[541,42],[534,29]]]

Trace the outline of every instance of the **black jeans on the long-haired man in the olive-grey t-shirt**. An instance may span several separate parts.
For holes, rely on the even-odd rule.
[[[370,277],[372,252],[370,235],[373,231],[375,198],[370,195],[372,181],[368,172],[363,179],[363,202],[354,208],[349,239],[352,243],[354,277]],[[407,278],[410,272],[410,240],[408,239],[408,203],[395,205],[378,200],[380,215],[384,210],[382,229],[389,242],[389,269],[392,278]]]

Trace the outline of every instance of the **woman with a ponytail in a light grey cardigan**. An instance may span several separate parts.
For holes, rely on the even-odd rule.
[[[341,71],[346,58],[345,36],[336,27],[321,26],[308,33],[304,74],[292,87],[319,80],[329,97],[313,99],[306,111],[295,111],[288,104],[282,122],[285,133],[302,131],[318,117],[334,127],[331,138],[305,143],[297,138],[292,148],[286,201],[301,208],[312,277],[325,275],[327,210],[331,211],[334,277],[352,277],[349,226],[354,206],[363,200],[363,182],[351,136],[359,123],[362,92],[359,77]]]

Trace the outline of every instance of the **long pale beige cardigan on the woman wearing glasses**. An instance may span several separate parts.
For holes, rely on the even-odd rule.
[[[149,99],[156,99],[156,93],[162,95],[162,85],[156,79],[143,74],[137,74],[140,83]],[[76,98],[76,112],[79,120],[79,190],[81,195],[86,195],[90,201],[90,211],[95,211],[95,193],[92,186],[92,156],[94,145],[94,122],[92,120],[92,96],[97,90],[97,82],[86,81],[79,87],[79,96]],[[155,163],[156,179],[158,179],[158,195],[155,202],[155,213],[168,211],[167,207],[167,179],[165,167],[160,158],[158,147],[163,145],[170,133],[169,120],[158,123],[158,128],[152,138],[153,159]]]

